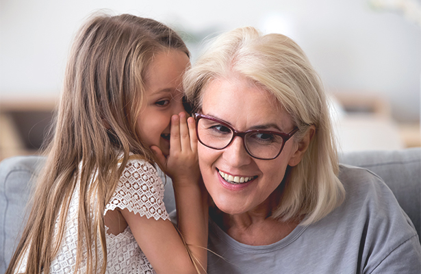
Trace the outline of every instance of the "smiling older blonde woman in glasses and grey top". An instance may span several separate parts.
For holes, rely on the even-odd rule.
[[[208,273],[420,273],[392,192],[338,164],[324,90],[294,41],[223,34],[184,88],[214,203]]]

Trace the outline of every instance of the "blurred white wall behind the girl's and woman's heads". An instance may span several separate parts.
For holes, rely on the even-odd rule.
[[[390,99],[398,121],[418,121],[420,26],[368,2],[1,0],[1,99],[57,97],[73,34],[88,14],[107,8],[164,21],[196,38],[244,25],[283,32],[307,52],[329,90],[377,92]]]

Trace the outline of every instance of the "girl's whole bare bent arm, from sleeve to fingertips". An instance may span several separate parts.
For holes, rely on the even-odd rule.
[[[120,212],[157,273],[205,273],[207,201],[202,198],[194,119],[186,119],[184,113],[172,117],[167,158],[156,147],[152,149],[173,179],[180,234],[169,220],[147,219],[127,209]]]

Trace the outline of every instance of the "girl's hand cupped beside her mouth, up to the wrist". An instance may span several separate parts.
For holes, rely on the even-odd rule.
[[[196,184],[200,177],[197,156],[196,125],[192,117],[185,112],[171,117],[170,155],[165,157],[162,151],[152,146],[151,149],[164,166],[164,171],[176,184]]]

